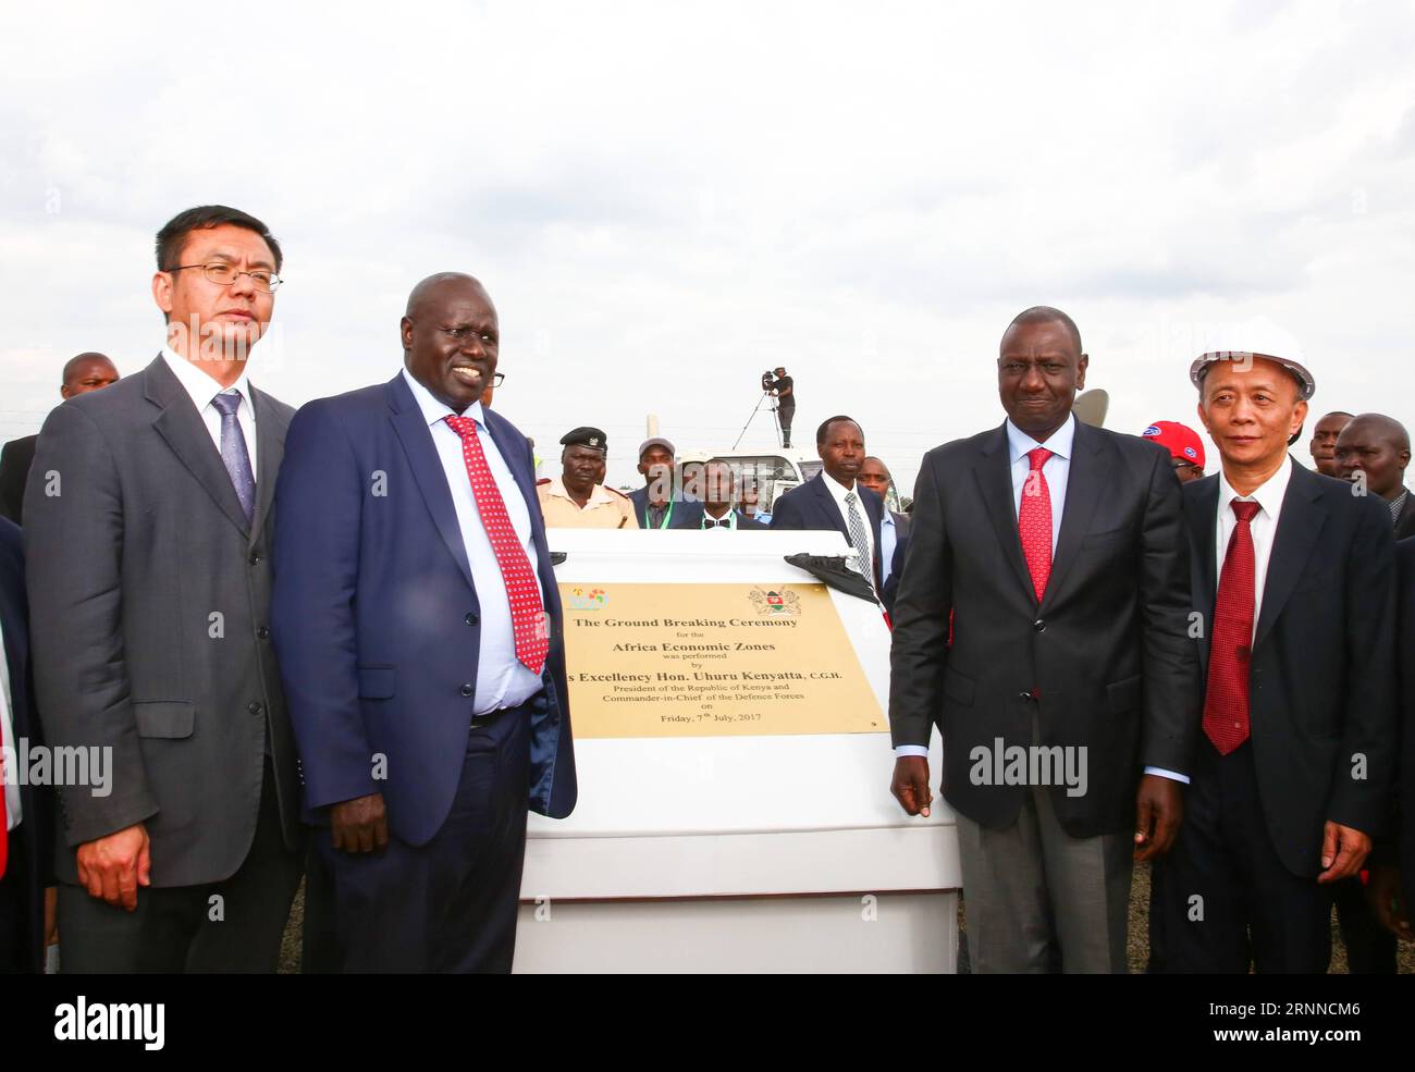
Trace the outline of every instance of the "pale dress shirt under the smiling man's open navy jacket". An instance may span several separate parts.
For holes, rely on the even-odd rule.
[[[473,714],[487,714],[498,707],[516,707],[538,692],[541,692],[541,676],[531,673],[516,658],[515,634],[511,631],[511,602],[507,598],[507,581],[501,576],[501,563],[491,550],[491,537],[481,523],[481,513],[477,511],[477,496],[471,491],[471,479],[467,477],[467,462],[461,454],[461,436],[453,431],[447,417],[458,416],[453,409],[432,396],[422,383],[408,375],[403,369],[403,382],[413,392],[417,409],[427,421],[427,429],[433,436],[433,445],[437,448],[437,458],[441,461],[443,472],[447,477],[447,488],[451,491],[451,502],[457,511],[457,525],[461,529],[461,542],[467,549],[467,563],[471,566],[471,580],[477,585],[477,601],[481,604],[481,646],[477,656],[477,694],[473,697]],[[545,593],[541,590],[541,576],[535,553],[535,542],[531,530],[531,509],[511,467],[507,465],[501,451],[497,450],[491,433],[487,430],[485,414],[481,403],[473,403],[463,414],[477,421],[477,441],[481,453],[487,455],[487,468],[497,482],[501,501],[507,506],[507,518],[515,529],[516,539],[525,549],[526,560],[531,563],[531,576],[535,577],[536,591],[541,593],[541,602],[545,604]]]

